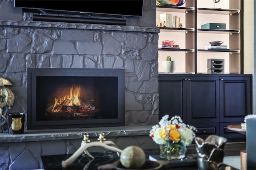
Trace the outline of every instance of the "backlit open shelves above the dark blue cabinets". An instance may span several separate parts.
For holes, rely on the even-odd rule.
[[[213,8],[218,6],[218,8]],[[156,18],[162,13],[180,16],[184,27],[161,27],[159,42],[174,40],[180,49],[159,49],[159,72],[161,61],[170,55],[177,61],[175,72],[207,74],[207,59],[224,59],[225,74],[243,74],[243,39],[241,1],[230,0],[205,2],[186,0],[182,6],[156,6]],[[226,23],[226,29],[202,29],[205,23]],[[227,49],[208,49],[210,41],[224,41]],[[174,73],[175,73],[174,72]]]

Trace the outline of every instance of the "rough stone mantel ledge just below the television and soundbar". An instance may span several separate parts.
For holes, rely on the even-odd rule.
[[[133,31],[159,33],[158,27],[139,27],[125,25],[104,25],[90,23],[65,23],[49,21],[0,21],[1,27],[41,27],[41,28],[65,28],[65,29],[86,29],[86,30],[105,30],[105,31]]]

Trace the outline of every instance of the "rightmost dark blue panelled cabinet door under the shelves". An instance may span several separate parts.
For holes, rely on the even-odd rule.
[[[220,122],[243,122],[252,114],[252,78],[220,77]]]

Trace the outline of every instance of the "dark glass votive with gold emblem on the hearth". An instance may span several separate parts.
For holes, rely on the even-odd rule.
[[[8,113],[8,133],[24,133],[25,113]]]

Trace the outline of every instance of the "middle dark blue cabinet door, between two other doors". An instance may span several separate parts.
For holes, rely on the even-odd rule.
[[[189,82],[189,88],[186,89],[188,123],[218,123],[218,76],[192,77]]]

